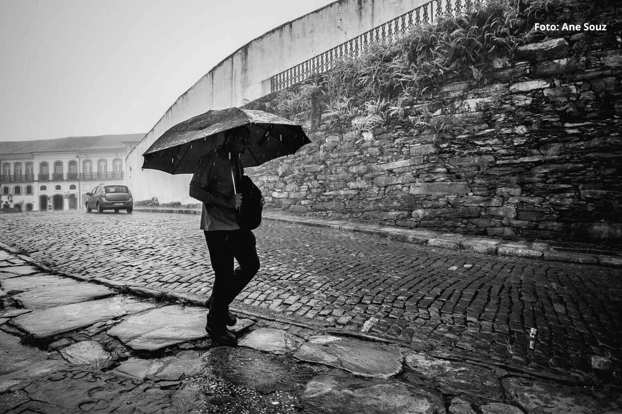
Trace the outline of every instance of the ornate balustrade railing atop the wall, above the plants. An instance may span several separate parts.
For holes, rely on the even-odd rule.
[[[395,40],[414,25],[434,24],[436,17],[459,13],[470,6],[480,6],[483,1],[485,0],[431,0],[324,53],[277,73],[270,78],[271,91],[289,88],[309,78],[313,73],[327,71],[335,60],[360,56],[371,44]]]

